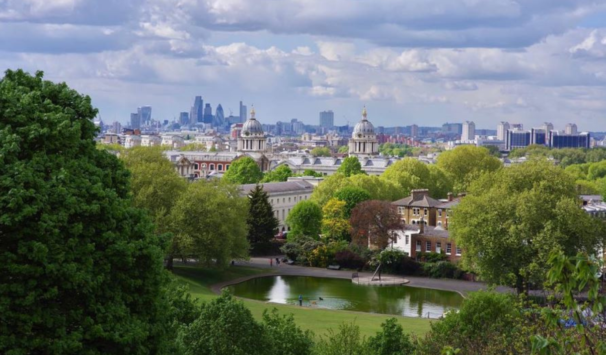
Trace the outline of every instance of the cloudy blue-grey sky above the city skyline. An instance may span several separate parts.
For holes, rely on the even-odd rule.
[[[104,122],[194,96],[226,116],[606,131],[606,0],[0,0],[0,68],[42,70]]]

